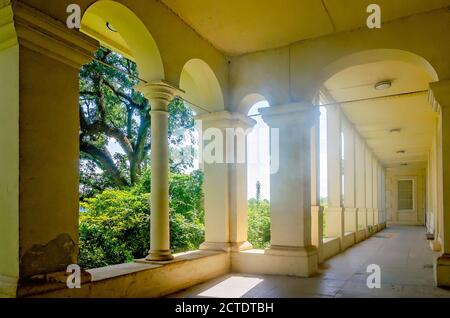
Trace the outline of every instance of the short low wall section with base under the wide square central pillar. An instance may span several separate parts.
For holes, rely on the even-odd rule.
[[[314,246],[271,246],[262,250],[233,253],[232,270],[247,274],[309,277],[317,272],[318,253]]]

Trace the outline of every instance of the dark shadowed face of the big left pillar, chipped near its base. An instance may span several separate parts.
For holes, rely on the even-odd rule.
[[[79,70],[20,49],[20,276],[77,260]]]

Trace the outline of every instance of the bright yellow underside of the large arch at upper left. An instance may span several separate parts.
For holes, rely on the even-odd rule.
[[[83,15],[81,31],[132,58],[145,81],[165,78],[155,40],[142,21],[124,5],[108,0],[95,2]]]

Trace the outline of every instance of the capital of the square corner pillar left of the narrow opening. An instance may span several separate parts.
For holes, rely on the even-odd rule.
[[[220,111],[214,113],[201,114],[195,117],[196,120],[206,123],[208,127],[217,128],[252,128],[256,125],[256,120],[237,112]]]

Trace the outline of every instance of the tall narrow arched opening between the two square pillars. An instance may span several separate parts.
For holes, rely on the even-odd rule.
[[[253,94],[240,106],[256,121],[247,136],[248,241],[264,249],[270,244],[270,128],[259,110],[270,105],[263,96]]]

